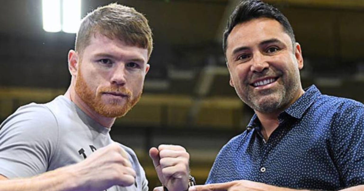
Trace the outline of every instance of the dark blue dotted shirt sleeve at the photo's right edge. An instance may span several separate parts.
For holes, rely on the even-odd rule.
[[[334,161],[345,187],[364,184],[364,106],[347,107],[332,129]]]

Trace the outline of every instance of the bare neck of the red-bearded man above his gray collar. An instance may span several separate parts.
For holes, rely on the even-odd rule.
[[[99,124],[104,127],[111,128],[112,124],[114,124],[116,118],[107,118],[102,115],[99,115],[94,110],[92,110],[86,103],[82,101],[82,99],[76,93],[74,85],[70,85],[64,94],[66,98],[70,99],[73,103],[76,104],[86,115],[88,115],[91,119],[95,120]]]

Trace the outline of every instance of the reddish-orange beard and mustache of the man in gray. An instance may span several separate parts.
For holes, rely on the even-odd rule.
[[[75,90],[78,96],[82,99],[84,103],[87,104],[92,110],[94,110],[99,115],[108,118],[118,118],[124,116],[135,104],[138,103],[142,91],[135,97],[133,97],[132,92],[125,87],[120,86],[110,86],[98,88],[94,93],[87,85],[86,81],[81,75],[80,69],[78,70],[76,77]],[[126,102],[122,104],[120,99],[111,99],[105,103],[101,96],[103,92],[119,92],[127,95]]]

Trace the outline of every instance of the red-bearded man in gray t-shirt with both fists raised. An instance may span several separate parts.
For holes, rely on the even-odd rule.
[[[20,107],[0,126],[0,191],[148,190],[134,151],[109,131],[142,94],[151,35],[134,8],[110,4],[84,17],[68,53],[67,92]],[[166,188],[187,190],[184,148],[161,145],[151,156]]]

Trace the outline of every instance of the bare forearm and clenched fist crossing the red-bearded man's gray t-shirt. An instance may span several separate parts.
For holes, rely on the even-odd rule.
[[[0,191],[102,191],[114,185],[130,186],[135,175],[126,152],[112,143],[80,163],[37,176],[17,179],[1,176]]]

